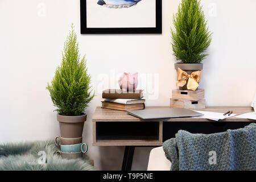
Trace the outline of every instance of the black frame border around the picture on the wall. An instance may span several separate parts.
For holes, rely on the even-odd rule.
[[[162,0],[156,1],[156,27],[152,28],[88,28],[86,0],[80,0],[81,34],[162,34]]]

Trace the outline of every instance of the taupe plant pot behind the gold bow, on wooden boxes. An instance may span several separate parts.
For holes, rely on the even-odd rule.
[[[180,68],[183,71],[187,72],[188,74],[191,74],[192,72],[196,72],[196,71],[203,69],[203,64],[202,63],[199,63],[199,64],[175,63],[174,67],[176,70],[177,70],[177,68]],[[187,83],[182,87],[180,86],[179,89],[180,90],[188,90]]]

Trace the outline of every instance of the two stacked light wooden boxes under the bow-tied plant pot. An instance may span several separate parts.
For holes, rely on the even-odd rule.
[[[172,90],[170,107],[184,109],[205,109],[204,89]]]

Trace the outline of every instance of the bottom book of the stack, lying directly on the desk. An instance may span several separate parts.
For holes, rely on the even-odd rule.
[[[122,111],[127,111],[127,110],[141,110],[145,109],[145,104],[119,104],[119,103],[114,103],[114,102],[101,102],[101,107],[105,109],[114,109],[114,110],[122,110]]]

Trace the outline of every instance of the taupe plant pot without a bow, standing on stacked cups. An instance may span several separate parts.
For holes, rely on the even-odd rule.
[[[63,138],[80,138],[84,130],[87,115],[67,116],[57,114],[60,123],[60,136]]]

